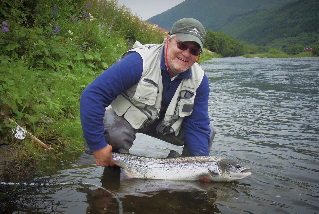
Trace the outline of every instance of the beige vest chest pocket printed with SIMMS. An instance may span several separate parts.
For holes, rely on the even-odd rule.
[[[140,108],[152,106],[155,104],[158,93],[159,85],[151,79],[144,78],[143,81],[138,82],[132,103]]]

